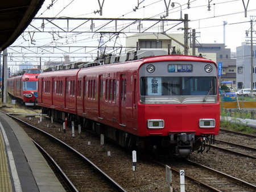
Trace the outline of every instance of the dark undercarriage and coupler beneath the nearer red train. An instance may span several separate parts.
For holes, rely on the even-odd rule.
[[[64,122],[68,119],[68,124],[73,121],[75,126],[97,134],[104,134],[104,137],[127,149],[136,150],[143,153],[151,153],[154,157],[167,158],[188,158],[192,152],[208,152],[213,139],[210,136],[196,136],[193,133],[170,134],[169,136],[148,136],[138,137],[131,133],[118,130],[105,124],[95,122],[90,119],[68,114],[63,111],[53,110],[43,107],[43,114],[51,116],[55,120]],[[208,144],[208,148],[207,147]]]

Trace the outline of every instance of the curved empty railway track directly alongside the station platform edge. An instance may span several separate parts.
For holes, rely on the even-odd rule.
[[[61,168],[59,172],[65,173],[63,177],[66,181],[71,181],[68,185],[72,191],[126,191],[92,161],[63,141],[15,116],[7,115],[26,125],[23,128],[28,135],[54,158]]]

